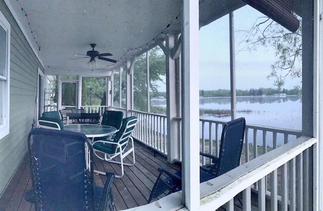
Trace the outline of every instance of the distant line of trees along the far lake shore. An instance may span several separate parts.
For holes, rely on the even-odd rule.
[[[301,95],[301,90],[276,90],[272,88],[259,88],[250,90],[237,90],[237,96],[261,96],[261,95],[275,95],[275,94],[286,94],[286,95]],[[150,92],[151,98],[165,97],[166,92]],[[230,90],[200,90],[201,97],[230,97]]]

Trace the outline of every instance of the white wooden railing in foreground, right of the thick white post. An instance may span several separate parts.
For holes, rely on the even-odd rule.
[[[252,205],[258,210],[314,210],[315,191],[310,181],[316,142],[314,138],[298,138],[201,184],[201,210],[223,205],[234,210],[234,197],[240,192],[243,210],[252,210]]]

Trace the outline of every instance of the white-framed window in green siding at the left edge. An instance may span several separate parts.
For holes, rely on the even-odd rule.
[[[0,12],[0,139],[9,134],[10,24]]]

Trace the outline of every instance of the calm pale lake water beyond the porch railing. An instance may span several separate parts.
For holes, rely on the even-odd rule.
[[[166,107],[166,99],[153,99],[151,105]],[[230,98],[228,97],[200,98],[199,105],[201,109],[231,109]],[[241,112],[246,110],[251,112]],[[224,121],[231,120],[231,116],[219,117],[205,114],[201,117]],[[239,117],[245,117],[247,124],[301,130],[302,100],[301,97],[297,96],[237,97],[237,118]],[[271,140],[268,140],[268,142],[271,142]],[[262,145],[261,142],[257,144]],[[271,145],[271,143],[268,143],[268,145]]]

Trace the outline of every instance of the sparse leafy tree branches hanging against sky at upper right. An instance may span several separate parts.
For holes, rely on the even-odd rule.
[[[240,31],[242,36],[247,37],[242,41],[244,47],[240,51],[256,50],[259,45],[274,48],[276,61],[271,65],[267,79],[273,78],[278,90],[284,86],[287,77],[302,76],[302,67],[297,65],[302,62],[302,20],[294,15],[300,21],[296,32],[288,31],[268,17],[259,17],[250,29]],[[299,90],[300,85],[294,86],[294,89]]]

